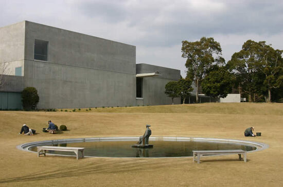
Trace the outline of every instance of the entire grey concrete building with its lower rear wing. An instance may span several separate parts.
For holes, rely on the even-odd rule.
[[[0,36],[10,75],[0,87],[2,109],[11,93],[19,106],[26,87],[38,90],[40,109],[167,105],[164,87],[180,78],[180,70],[136,65],[135,46],[108,39],[28,21],[0,28]]]

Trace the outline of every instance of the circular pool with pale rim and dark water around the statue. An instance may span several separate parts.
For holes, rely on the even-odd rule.
[[[248,152],[268,148],[265,143],[191,137],[150,137],[153,148],[132,148],[138,137],[100,137],[48,140],[24,143],[18,149],[37,152],[37,146],[84,148],[85,157],[189,157],[195,150],[244,150]],[[48,154],[75,156],[71,152],[47,151]]]

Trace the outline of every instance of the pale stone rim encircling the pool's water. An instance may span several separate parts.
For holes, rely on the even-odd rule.
[[[75,143],[75,142],[91,142],[91,141],[137,141],[139,137],[93,137],[93,138],[72,138],[72,139],[57,139],[57,140],[44,140],[44,141],[33,141],[28,143],[23,143],[16,146],[17,149],[21,151],[37,153],[35,151],[30,151],[29,148],[35,146],[44,146],[44,144],[50,143]],[[247,151],[247,153],[262,151],[269,148],[269,145],[257,141],[247,141],[247,140],[237,140],[237,139],[221,139],[221,138],[202,138],[202,137],[150,137],[149,140],[163,140],[163,141],[209,141],[209,142],[220,142],[220,143],[237,143],[245,146],[253,146],[256,149],[253,151]],[[75,155],[63,155],[63,154],[51,154],[47,155],[54,156],[75,156]],[[211,155],[216,156],[216,155]],[[181,157],[110,157],[110,156],[84,156],[86,158],[186,158],[192,156],[181,156]]]

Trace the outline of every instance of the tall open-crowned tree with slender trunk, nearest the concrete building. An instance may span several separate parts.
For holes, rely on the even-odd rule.
[[[202,37],[199,41],[182,41],[182,57],[187,58],[187,78],[196,85],[196,102],[199,102],[199,87],[207,70],[215,64],[224,64],[220,44],[213,37]]]

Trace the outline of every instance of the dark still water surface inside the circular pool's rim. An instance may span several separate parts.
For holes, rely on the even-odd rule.
[[[244,150],[253,151],[253,146],[237,143],[219,143],[205,141],[151,141],[154,148],[132,148],[135,141],[94,141],[76,143],[50,143],[45,146],[85,148],[85,156],[100,157],[182,157],[192,156],[192,150]],[[31,148],[37,151],[37,148]],[[52,154],[75,155],[72,152],[48,151]]]

